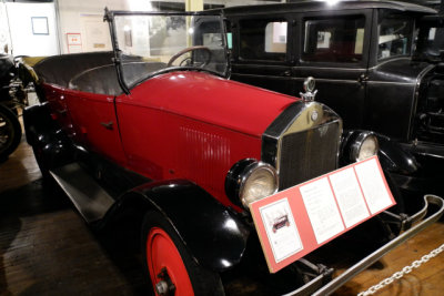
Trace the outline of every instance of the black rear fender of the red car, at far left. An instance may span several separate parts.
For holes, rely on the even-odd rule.
[[[44,162],[46,169],[71,162],[74,157],[72,141],[52,120],[48,102],[23,110],[27,142]]]

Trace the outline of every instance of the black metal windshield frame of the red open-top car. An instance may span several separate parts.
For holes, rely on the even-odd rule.
[[[169,67],[167,69],[162,69],[159,71],[153,72],[152,74],[144,76],[143,79],[138,80],[135,83],[128,85],[123,79],[123,67],[122,67],[122,53],[123,51],[119,48],[119,41],[117,38],[117,28],[115,28],[115,19],[114,17],[132,17],[132,16],[149,16],[149,17],[200,17],[200,16],[213,16],[220,19],[220,28],[222,34],[222,48],[223,54],[225,58],[225,70],[223,73],[215,72],[204,68],[193,68],[193,67]],[[115,65],[118,81],[125,94],[130,94],[130,89],[139,85],[143,81],[153,78],[159,74],[173,72],[173,71],[198,71],[198,72],[208,72],[218,76],[229,78],[230,76],[230,59],[229,59],[229,50],[228,50],[228,41],[226,41],[226,28],[224,23],[224,14],[223,11],[215,13],[215,12],[206,12],[206,11],[186,11],[186,12],[169,12],[169,11],[123,11],[123,10],[108,10],[105,8],[103,21],[108,21],[111,34],[111,43],[113,50],[113,63]]]

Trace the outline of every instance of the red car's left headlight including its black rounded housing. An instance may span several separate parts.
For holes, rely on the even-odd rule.
[[[225,192],[231,201],[245,208],[249,204],[278,191],[278,174],[270,164],[243,160],[230,170]]]

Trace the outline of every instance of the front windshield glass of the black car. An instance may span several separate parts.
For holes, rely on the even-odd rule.
[[[410,55],[414,19],[387,14],[379,23],[377,59]]]

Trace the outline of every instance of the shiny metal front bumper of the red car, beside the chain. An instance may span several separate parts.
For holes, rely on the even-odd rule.
[[[401,245],[408,238],[413,237],[417,233],[425,229],[427,226],[433,224],[434,222],[438,221],[440,217],[444,213],[444,200],[436,196],[436,195],[425,195],[424,196],[425,205],[421,211],[416,214],[406,218],[402,225],[402,228],[407,228],[408,225],[414,225],[413,227],[408,228],[407,231],[403,232],[396,238],[390,241],[387,244],[383,245],[365,258],[361,259],[359,263],[346,269],[340,276],[333,278],[327,284],[324,285],[325,280],[331,277],[331,269],[325,269],[322,274],[306,283],[304,286],[285,294],[284,296],[302,296],[302,295],[330,295],[335,292],[339,287],[344,285],[346,282],[352,279],[354,276],[360,274],[362,271],[366,269],[371,265],[373,265],[376,261],[383,257],[386,253],[395,248],[396,246]],[[427,212],[430,212],[430,206],[434,205],[437,207],[436,212],[430,215],[427,218],[422,221]],[[420,222],[422,221],[422,222]],[[417,224],[416,224],[417,223]]]

